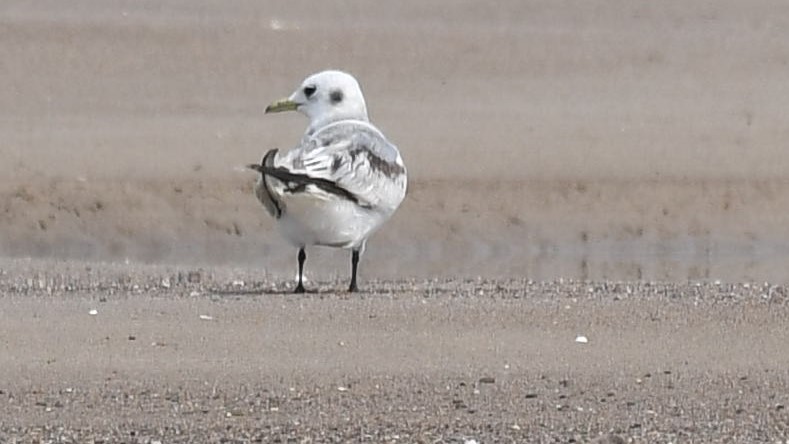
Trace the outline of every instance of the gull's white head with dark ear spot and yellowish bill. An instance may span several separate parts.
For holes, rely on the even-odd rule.
[[[304,79],[290,97],[266,107],[266,113],[294,110],[310,119],[310,129],[338,120],[367,120],[367,106],[359,82],[342,71],[313,74]]]

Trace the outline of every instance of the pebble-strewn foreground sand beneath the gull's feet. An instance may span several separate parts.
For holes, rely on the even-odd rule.
[[[772,443],[789,434],[787,287],[312,287],[294,296],[292,285],[244,269],[4,262],[0,441]]]

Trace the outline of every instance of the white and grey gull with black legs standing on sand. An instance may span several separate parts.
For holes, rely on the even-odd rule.
[[[304,292],[305,248],[312,245],[350,249],[348,291],[358,291],[356,270],[367,239],[405,197],[403,159],[370,123],[359,83],[345,72],[313,74],[290,97],[266,107],[266,113],[282,111],[307,116],[304,136],[284,155],[272,149],[249,168],[260,173],[258,200],[299,249],[295,292]]]

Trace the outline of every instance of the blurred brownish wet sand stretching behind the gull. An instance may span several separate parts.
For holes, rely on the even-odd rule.
[[[780,1],[6,1],[0,254],[295,274],[241,167],[356,75],[410,172],[363,278],[789,277]],[[313,277],[345,276],[316,249]]]

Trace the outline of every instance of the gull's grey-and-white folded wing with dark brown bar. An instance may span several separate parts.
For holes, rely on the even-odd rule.
[[[363,206],[394,209],[405,196],[407,175],[397,147],[367,122],[327,125],[277,163],[292,173],[334,183]]]

